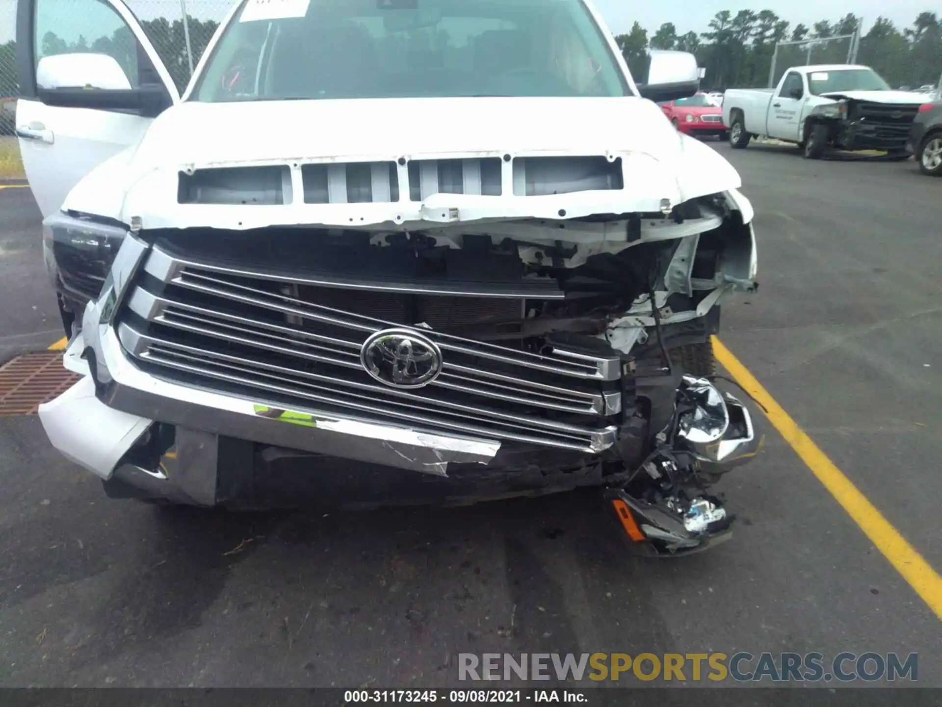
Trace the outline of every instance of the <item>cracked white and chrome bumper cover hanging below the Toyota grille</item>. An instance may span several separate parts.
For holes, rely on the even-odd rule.
[[[98,311],[89,307],[86,321]],[[86,347],[94,351],[94,373],[86,365],[81,381],[41,405],[40,418],[59,452],[103,479],[110,478],[155,421],[122,410],[150,410],[161,422],[203,433],[443,476],[449,463],[486,464],[500,449],[497,440],[431,435],[311,411],[295,412],[161,381],[136,369],[108,328],[95,341],[86,341],[80,334],[66,355],[74,360]],[[104,386],[103,378],[109,380]],[[95,396],[96,387],[103,390],[107,404]]]

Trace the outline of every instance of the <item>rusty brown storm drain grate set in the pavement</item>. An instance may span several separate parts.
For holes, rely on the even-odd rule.
[[[41,351],[14,358],[0,368],[0,416],[35,415],[81,376],[62,367],[62,352]]]

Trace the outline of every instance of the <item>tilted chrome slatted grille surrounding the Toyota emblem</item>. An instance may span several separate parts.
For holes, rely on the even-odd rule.
[[[119,337],[158,375],[260,402],[580,451],[614,442],[617,357],[532,353],[413,326],[442,350],[442,372],[419,390],[383,386],[363,369],[360,349],[401,322],[292,291],[267,275],[184,262],[157,247],[126,301]]]

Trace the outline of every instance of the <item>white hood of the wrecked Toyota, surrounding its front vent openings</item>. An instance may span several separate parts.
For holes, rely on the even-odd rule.
[[[484,219],[570,219],[598,213],[658,211],[710,193],[739,189],[739,174],[707,145],[678,134],[661,111],[641,99],[443,99],[407,101],[386,120],[382,135],[365,134],[374,102],[324,101],[260,104],[182,104],[158,118],[143,140],[100,165],[63,208],[143,228],[195,226],[235,230],[271,225],[404,227],[416,222],[454,224]],[[391,107],[383,103],[385,112]],[[375,108],[375,107],[373,107]],[[430,135],[414,124],[448,120],[456,130]],[[497,119],[499,116],[499,120]],[[260,128],[269,121],[285,129]],[[291,126],[322,127],[303,131]],[[335,131],[331,140],[325,134]],[[391,153],[390,147],[402,148]],[[490,148],[490,149],[488,149]],[[549,196],[435,194],[424,202],[284,206],[180,205],[185,170],[284,164],[300,187],[300,164],[502,156],[621,157],[625,187]]]

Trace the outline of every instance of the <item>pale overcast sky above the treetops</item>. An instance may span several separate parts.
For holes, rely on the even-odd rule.
[[[48,2],[49,0],[47,0]],[[58,0],[62,2],[62,0]],[[150,19],[165,15],[179,18],[179,0],[126,0],[138,12],[138,16]],[[198,17],[219,20],[229,0],[187,0],[189,12]],[[792,26],[804,23],[809,27],[819,20],[836,22],[842,15],[853,12],[864,18],[865,31],[869,25],[883,15],[897,26],[909,26],[919,12],[938,9],[938,0],[761,0],[757,2],[731,2],[730,0],[667,0],[650,2],[645,0],[595,0],[615,34],[626,32],[636,20],[648,30],[648,35],[665,22],[673,22],[677,33],[690,30],[703,32],[710,18],[722,9],[736,14],[739,9],[771,9]],[[13,36],[13,20],[16,0],[0,0],[0,41]]]

